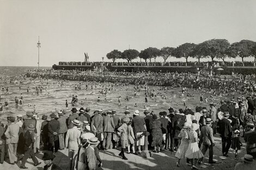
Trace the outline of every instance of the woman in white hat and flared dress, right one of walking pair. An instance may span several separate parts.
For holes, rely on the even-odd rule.
[[[192,123],[191,131],[188,134],[190,138],[190,144],[188,145],[185,157],[190,159],[191,169],[198,169],[198,167],[196,167],[197,160],[204,156],[204,154],[199,149],[198,143],[197,143],[198,134],[196,130],[198,128],[199,128],[199,125],[197,123]]]

